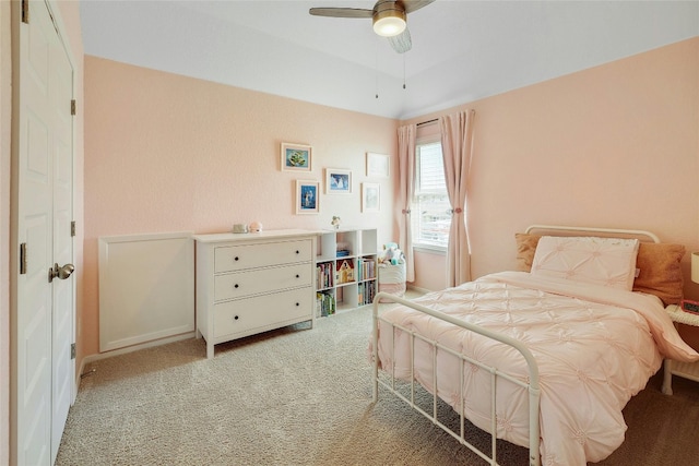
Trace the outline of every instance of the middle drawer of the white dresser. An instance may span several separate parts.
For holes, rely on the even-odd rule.
[[[311,266],[293,264],[256,268],[214,277],[214,300],[242,298],[281,289],[312,286]]]

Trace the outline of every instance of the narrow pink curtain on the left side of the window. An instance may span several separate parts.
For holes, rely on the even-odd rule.
[[[398,176],[400,208],[398,225],[400,229],[399,244],[405,253],[405,279],[415,282],[413,262],[413,235],[411,232],[411,206],[415,190],[415,134],[416,124],[406,124],[398,129]]]

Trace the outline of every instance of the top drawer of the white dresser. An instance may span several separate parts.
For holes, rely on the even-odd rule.
[[[312,260],[311,240],[218,247],[214,251],[214,272],[293,264]]]

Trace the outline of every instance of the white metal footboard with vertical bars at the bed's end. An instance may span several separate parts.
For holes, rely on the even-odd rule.
[[[458,325],[462,328],[465,328],[467,331],[471,332],[475,332],[478,333],[487,338],[491,338],[498,342],[501,342],[506,345],[511,346],[512,348],[514,348],[516,350],[518,350],[522,357],[524,358],[524,360],[526,361],[526,365],[529,367],[529,380],[528,382],[523,382],[519,379],[516,379],[502,371],[499,371],[498,368],[495,367],[490,367],[487,366],[481,361],[474,360],[473,358],[470,358],[463,354],[460,354],[458,351],[454,351],[443,345],[440,345],[439,342],[436,340],[431,340],[423,335],[419,335],[418,333],[411,331],[408,328],[405,328],[399,324],[395,324],[393,322],[390,322],[388,320],[382,319],[379,315],[379,302],[386,303],[386,302],[394,302],[394,303],[400,303],[403,306],[406,306],[413,310],[416,310],[418,312],[423,312],[426,314],[429,314],[436,319],[441,319],[446,322],[449,322],[453,325]],[[464,393],[464,384],[463,384],[463,367],[464,367],[464,362],[469,362],[471,365],[477,366],[478,368],[488,371],[488,373],[490,374],[490,392],[491,392],[491,409],[490,409],[490,429],[489,429],[489,434],[490,434],[490,439],[491,439],[491,446],[490,446],[490,456],[486,455],[485,453],[483,453],[479,449],[477,449],[476,446],[474,446],[473,444],[471,444],[466,439],[465,439],[465,429],[464,429],[464,413],[463,409],[459,409],[459,416],[460,416],[460,431],[455,432],[452,428],[446,426],[445,423],[442,423],[438,416],[437,416],[437,386],[438,386],[438,381],[437,381],[437,370],[433,370],[433,386],[435,387],[434,393],[431,394],[433,396],[433,409],[431,413],[428,413],[427,410],[423,409],[420,406],[415,404],[415,399],[414,399],[414,395],[415,395],[415,384],[418,384],[415,381],[414,377],[411,377],[410,380],[410,397],[405,396],[404,394],[402,394],[401,392],[399,392],[395,389],[395,374],[394,371],[391,370],[390,372],[390,381],[383,381],[379,378],[379,321],[386,323],[387,325],[390,325],[391,328],[393,330],[393,334],[395,334],[395,330],[400,330],[401,332],[404,332],[406,335],[410,335],[410,342],[411,342],[411,367],[414,368],[415,366],[415,354],[413,351],[414,349],[414,343],[416,339],[419,339],[420,342],[424,342],[426,344],[428,344],[431,348],[433,348],[433,354],[436,357],[437,354],[437,349],[439,349],[440,351],[447,351],[449,354],[451,354],[452,356],[459,358],[461,360],[460,366],[460,386],[461,386],[461,397],[460,399],[464,399],[466,394]],[[378,401],[378,396],[379,396],[379,385],[381,385],[382,387],[384,387],[386,390],[388,390],[389,392],[393,393],[395,396],[398,396],[400,399],[402,399],[403,402],[407,403],[413,409],[417,410],[418,413],[420,413],[423,416],[425,416],[426,418],[428,418],[433,423],[435,423],[436,426],[438,426],[439,428],[441,428],[445,432],[449,433],[451,437],[453,437],[457,441],[459,441],[461,444],[465,445],[466,447],[469,447],[472,452],[474,452],[475,454],[477,454],[478,456],[481,456],[483,459],[485,459],[486,462],[488,462],[490,465],[497,465],[497,418],[496,418],[496,390],[497,390],[497,380],[498,379],[506,379],[517,385],[520,385],[522,387],[524,387],[528,393],[529,393],[529,463],[530,466],[538,466],[541,464],[541,457],[540,457],[540,385],[538,385],[538,367],[536,366],[536,361],[534,360],[533,355],[531,354],[531,351],[524,346],[522,345],[520,342],[512,339],[508,336],[505,335],[499,335],[495,332],[490,332],[487,328],[483,328],[473,324],[470,324],[467,322],[461,321],[459,319],[454,319],[448,314],[445,314],[442,312],[439,311],[435,311],[433,309],[429,309],[427,307],[420,306],[418,303],[408,301],[406,299],[403,298],[399,298],[394,295],[390,295],[387,292],[379,292],[376,295],[375,300],[374,300],[374,318],[372,318],[372,363],[374,363],[374,370],[372,370],[372,383],[374,383],[374,402],[376,403]],[[392,347],[392,351],[394,351],[395,348]],[[391,355],[391,359],[393,360],[393,355]]]

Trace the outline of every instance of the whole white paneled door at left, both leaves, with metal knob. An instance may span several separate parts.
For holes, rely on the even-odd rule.
[[[11,461],[50,465],[72,399],[74,373],[70,350],[66,355],[64,349],[72,343],[73,280],[49,282],[54,263],[72,262],[73,254],[70,220],[61,226],[72,217],[72,68],[46,3],[28,2],[28,22],[19,28],[15,190],[21,258],[11,361]],[[57,234],[63,228],[68,239]]]

